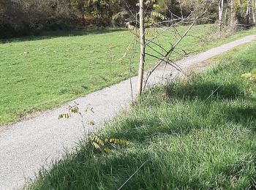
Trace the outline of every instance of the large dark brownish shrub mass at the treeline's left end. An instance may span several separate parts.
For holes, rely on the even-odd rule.
[[[75,18],[67,0],[0,0],[1,37],[72,27]]]

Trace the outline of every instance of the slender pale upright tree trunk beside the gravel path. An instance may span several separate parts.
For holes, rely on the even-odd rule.
[[[145,63],[144,0],[140,0],[140,66],[138,74],[138,95],[142,93]]]

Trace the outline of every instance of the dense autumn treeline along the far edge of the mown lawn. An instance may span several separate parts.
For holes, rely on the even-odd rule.
[[[153,1],[153,0],[151,0]],[[154,0],[167,18],[185,17],[203,0]],[[207,22],[255,24],[255,0],[205,0]],[[0,0],[0,37],[37,34],[77,26],[124,26],[135,20],[137,0]],[[224,23],[224,24],[223,24]]]

